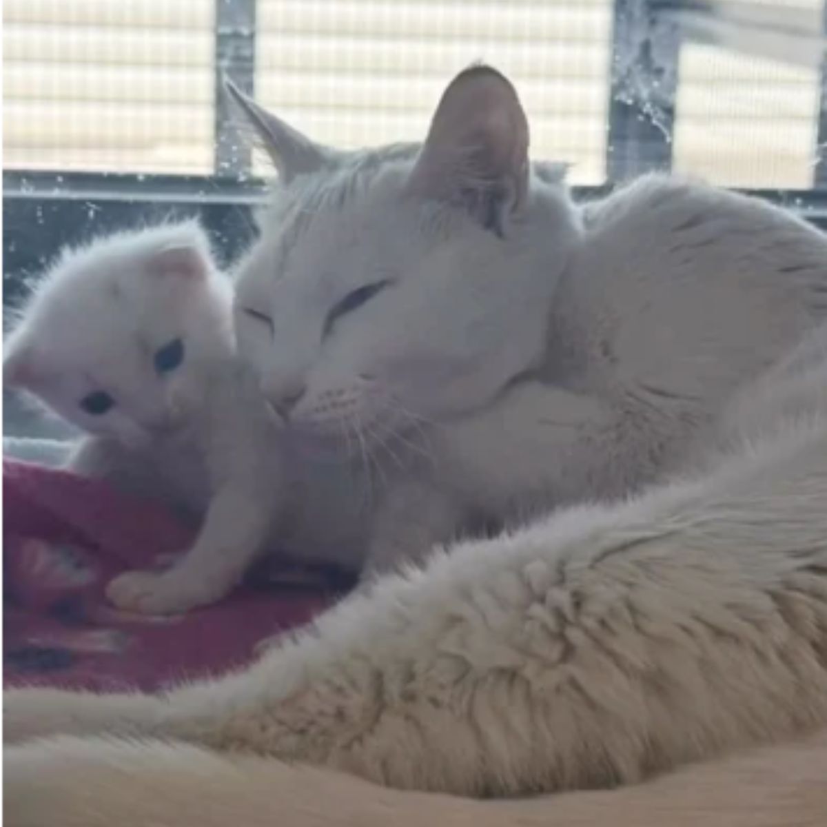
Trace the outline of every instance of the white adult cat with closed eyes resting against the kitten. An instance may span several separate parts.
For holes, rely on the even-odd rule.
[[[824,237],[766,203],[655,177],[576,208],[493,69],[421,151],[317,146],[235,94],[280,171],[239,348],[293,433],[384,457],[369,569],[656,479],[827,310]]]

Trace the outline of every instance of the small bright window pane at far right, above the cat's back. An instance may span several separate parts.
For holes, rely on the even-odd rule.
[[[681,12],[674,166],[718,184],[809,189],[824,0],[718,0]]]

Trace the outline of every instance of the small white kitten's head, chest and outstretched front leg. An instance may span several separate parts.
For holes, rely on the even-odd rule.
[[[178,565],[112,581],[124,609],[217,600],[280,517],[275,418],[237,364],[231,308],[203,231],[165,225],[66,251],[7,341],[4,383],[91,435],[75,470],[203,517]]]

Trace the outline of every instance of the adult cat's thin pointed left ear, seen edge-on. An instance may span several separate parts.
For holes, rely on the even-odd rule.
[[[314,143],[289,123],[275,117],[241,92],[231,80],[225,79],[224,86],[264,142],[264,148],[282,179],[289,181],[296,175],[315,172],[332,160],[334,153],[326,146]]]

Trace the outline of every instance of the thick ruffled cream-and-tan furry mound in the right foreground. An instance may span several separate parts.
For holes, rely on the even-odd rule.
[[[825,501],[827,439],[802,429],[697,483],[463,543],[170,693],[146,733],[516,795],[823,726]]]

